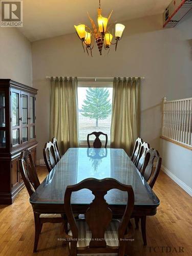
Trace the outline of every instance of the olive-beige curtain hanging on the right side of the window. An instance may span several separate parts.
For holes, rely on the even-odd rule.
[[[114,78],[111,120],[111,147],[123,148],[131,155],[140,135],[140,85],[134,77]]]

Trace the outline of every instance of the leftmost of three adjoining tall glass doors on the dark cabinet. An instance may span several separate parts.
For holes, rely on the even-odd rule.
[[[19,92],[11,92],[12,105],[12,144],[16,146],[19,144]]]

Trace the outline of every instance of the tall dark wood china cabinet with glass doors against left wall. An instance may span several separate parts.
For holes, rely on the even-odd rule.
[[[20,152],[31,151],[36,163],[37,90],[11,79],[0,79],[0,204],[12,204],[23,188]]]

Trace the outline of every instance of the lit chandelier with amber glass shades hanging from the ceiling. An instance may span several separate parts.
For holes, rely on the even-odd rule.
[[[122,33],[125,28],[125,26],[122,24],[115,25],[115,42],[113,43],[112,39],[113,39],[114,35],[113,35],[113,30],[111,33],[112,25],[108,25],[108,22],[110,20],[113,10],[111,11],[108,18],[102,17],[101,11],[102,11],[101,0],[99,0],[98,19],[97,19],[98,28],[96,27],[96,25],[93,22],[93,19],[90,17],[89,13],[88,13],[88,16],[89,16],[89,19],[92,24],[92,28],[93,28],[92,30],[88,26],[83,25],[83,24],[80,24],[78,26],[74,25],[76,33],[82,42],[83,50],[84,50],[84,47],[86,47],[88,55],[89,55],[89,51],[90,51],[91,56],[92,56],[92,49],[94,47],[94,41],[97,44],[100,55],[102,55],[103,47],[105,50],[110,50],[110,46],[115,45],[115,51],[116,51],[118,41],[122,38]],[[84,50],[84,52],[85,52],[85,50]]]

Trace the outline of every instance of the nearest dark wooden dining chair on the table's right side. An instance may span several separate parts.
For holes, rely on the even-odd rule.
[[[153,167],[154,167],[154,161],[156,161],[156,167],[153,173]],[[160,169],[161,169],[161,157],[159,156],[159,152],[157,150],[154,150],[154,148],[150,148],[146,151],[144,163],[141,169],[141,175],[143,178],[148,182],[151,188],[153,188],[157,177],[159,176]],[[153,175],[152,175],[153,173]],[[141,219],[141,231],[142,231],[142,237],[143,237],[143,243],[144,245],[147,244],[146,242],[146,216],[142,216],[140,218],[135,217],[135,224],[136,228],[139,228],[139,219]]]

